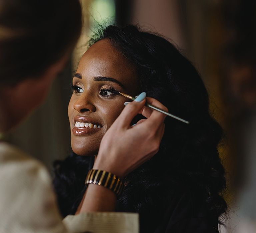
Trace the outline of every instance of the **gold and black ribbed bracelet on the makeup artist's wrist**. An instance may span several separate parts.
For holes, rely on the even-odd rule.
[[[98,184],[113,191],[119,196],[124,188],[123,181],[116,175],[103,171],[91,169],[85,179],[85,184]]]

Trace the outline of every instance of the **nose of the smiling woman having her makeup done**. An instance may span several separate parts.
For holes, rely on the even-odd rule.
[[[93,97],[89,93],[83,93],[74,103],[74,109],[79,113],[95,112],[96,107],[93,104]]]

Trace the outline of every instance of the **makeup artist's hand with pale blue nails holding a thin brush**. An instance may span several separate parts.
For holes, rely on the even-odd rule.
[[[101,169],[124,177],[158,152],[164,134],[164,114],[145,107],[145,102],[164,111],[168,109],[153,98],[141,93],[129,103],[102,138],[93,169]],[[138,101],[138,102],[137,102]],[[130,126],[138,114],[141,119]]]

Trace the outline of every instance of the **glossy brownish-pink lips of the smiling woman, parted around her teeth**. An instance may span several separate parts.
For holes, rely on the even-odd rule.
[[[97,124],[100,125],[100,128],[77,128],[75,127],[75,122],[79,121],[79,122],[88,122],[88,123],[92,123],[92,124]],[[83,136],[86,134],[92,134],[97,132],[98,130],[100,130],[102,128],[102,124],[99,123],[98,121],[95,121],[94,119],[90,118],[90,117],[85,117],[85,116],[75,116],[73,119],[73,128],[72,128],[72,132],[74,135],[76,136]]]

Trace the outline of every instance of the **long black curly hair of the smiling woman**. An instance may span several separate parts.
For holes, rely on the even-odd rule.
[[[89,46],[108,39],[137,69],[140,91],[165,105],[169,112],[190,121],[165,119],[159,152],[124,178],[127,184],[117,201],[117,211],[138,212],[140,229],[151,232],[180,193],[206,206],[218,219],[227,204],[218,144],[222,128],[209,113],[209,97],[194,66],[169,41],[137,26],[108,26],[95,34]],[[72,154],[55,162],[54,187],[63,216],[74,214],[86,190],[84,180],[93,166],[91,156]]]

